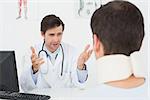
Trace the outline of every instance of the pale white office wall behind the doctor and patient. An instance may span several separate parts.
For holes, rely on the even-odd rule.
[[[22,4],[21,17],[19,16],[18,0],[0,0],[0,50],[14,50],[16,54],[18,77],[23,69],[24,55],[30,46],[43,41],[40,35],[40,21],[48,14],[59,16],[65,23],[65,30],[62,41],[76,47],[79,52],[84,50],[87,44],[92,48],[92,32],[90,28],[90,18],[93,11],[101,4],[110,0],[26,0],[26,5]],[[145,23],[145,37],[142,44],[142,63],[146,68],[147,80],[149,82],[150,64],[149,59],[149,1],[129,0],[135,4],[142,12]],[[86,2],[90,2],[86,5]],[[96,3],[94,5],[93,3]],[[82,9],[83,7],[83,9]],[[88,9],[86,11],[86,9]],[[89,10],[90,9],[90,10]],[[83,11],[82,11],[83,10]],[[85,10],[85,11],[84,11]],[[149,17],[148,17],[149,16]],[[94,66],[95,55],[92,54],[88,60],[88,82],[87,87],[92,87],[96,81],[96,66]],[[148,88],[148,87],[147,87]],[[78,93],[84,89],[77,90]],[[150,93],[147,90],[147,93]],[[91,92],[92,93],[92,92]],[[56,93],[57,94],[57,93]]]

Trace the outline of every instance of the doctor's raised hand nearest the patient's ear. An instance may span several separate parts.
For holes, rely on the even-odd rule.
[[[92,49],[89,50],[89,48],[90,48],[90,45],[88,44],[78,58],[77,67],[79,70],[84,69],[85,62],[90,58],[92,54],[93,50]]]

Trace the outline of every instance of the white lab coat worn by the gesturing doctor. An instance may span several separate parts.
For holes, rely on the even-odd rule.
[[[78,55],[75,48],[72,46],[61,43],[64,51],[64,66],[63,75],[61,76],[61,64],[62,64],[62,50],[58,53],[55,64],[51,64],[49,61],[48,72],[46,74],[38,71],[37,82],[33,80],[32,63],[31,63],[31,50],[24,58],[24,70],[20,77],[21,88],[26,92],[35,88],[64,88],[64,87],[82,87],[84,84],[79,82],[77,75],[77,58]],[[36,53],[42,48],[42,43],[36,45]],[[48,59],[48,58],[47,58]],[[43,67],[43,66],[42,66]],[[82,71],[83,77],[87,77],[87,71]]]

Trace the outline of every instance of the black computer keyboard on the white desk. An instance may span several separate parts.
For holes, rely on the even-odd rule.
[[[29,94],[29,93],[18,93],[10,91],[0,91],[0,99],[10,99],[10,100],[48,100],[50,96],[39,95],[39,94]]]

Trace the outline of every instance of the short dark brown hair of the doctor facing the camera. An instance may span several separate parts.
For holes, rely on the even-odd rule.
[[[59,27],[60,25],[62,25],[64,30],[65,25],[59,17],[53,14],[47,15],[41,21],[41,32],[45,33],[48,29]]]

